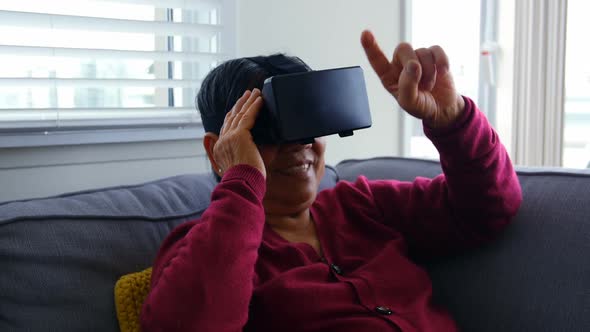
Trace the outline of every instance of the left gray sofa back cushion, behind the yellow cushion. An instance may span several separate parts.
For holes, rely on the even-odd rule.
[[[321,188],[337,181],[328,167]],[[119,331],[117,280],[151,266],[164,238],[209,205],[215,180],[0,204],[0,331]]]

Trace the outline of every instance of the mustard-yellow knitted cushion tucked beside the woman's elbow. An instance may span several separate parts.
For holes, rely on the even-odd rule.
[[[141,306],[150,291],[152,268],[122,276],[115,284],[115,307],[121,332],[139,332]]]

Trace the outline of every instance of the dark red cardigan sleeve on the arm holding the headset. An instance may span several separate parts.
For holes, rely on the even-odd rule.
[[[143,331],[242,331],[262,241],[265,180],[256,169],[229,169],[198,221],[178,226],[153,266]]]

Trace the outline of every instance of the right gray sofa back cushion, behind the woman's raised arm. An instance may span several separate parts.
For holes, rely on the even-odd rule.
[[[438,162],[349,160],[343,180],[412,181]],[[463,331],[590,331],[590,171],[517,168],[523,204],[494,243],[428,262],[435,300]]]

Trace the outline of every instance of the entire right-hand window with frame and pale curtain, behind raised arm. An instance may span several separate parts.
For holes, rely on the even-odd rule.
[[[477,101],[515,164],[590,167],[587,1],[408,2],[410,39],[447,50],[458,91]],[[419,121],[408,123],[404,154],[437,158]]]

